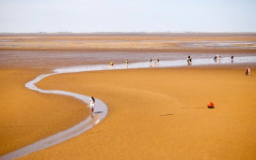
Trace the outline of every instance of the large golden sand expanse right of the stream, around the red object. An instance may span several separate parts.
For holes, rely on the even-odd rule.
[[[22,159],[255,159],[256,77],[244,72],[152,68],[46,78],[40,88],[94,95],[109,113],[81,136]],[[215,109],[207,109],[210,101]]]

